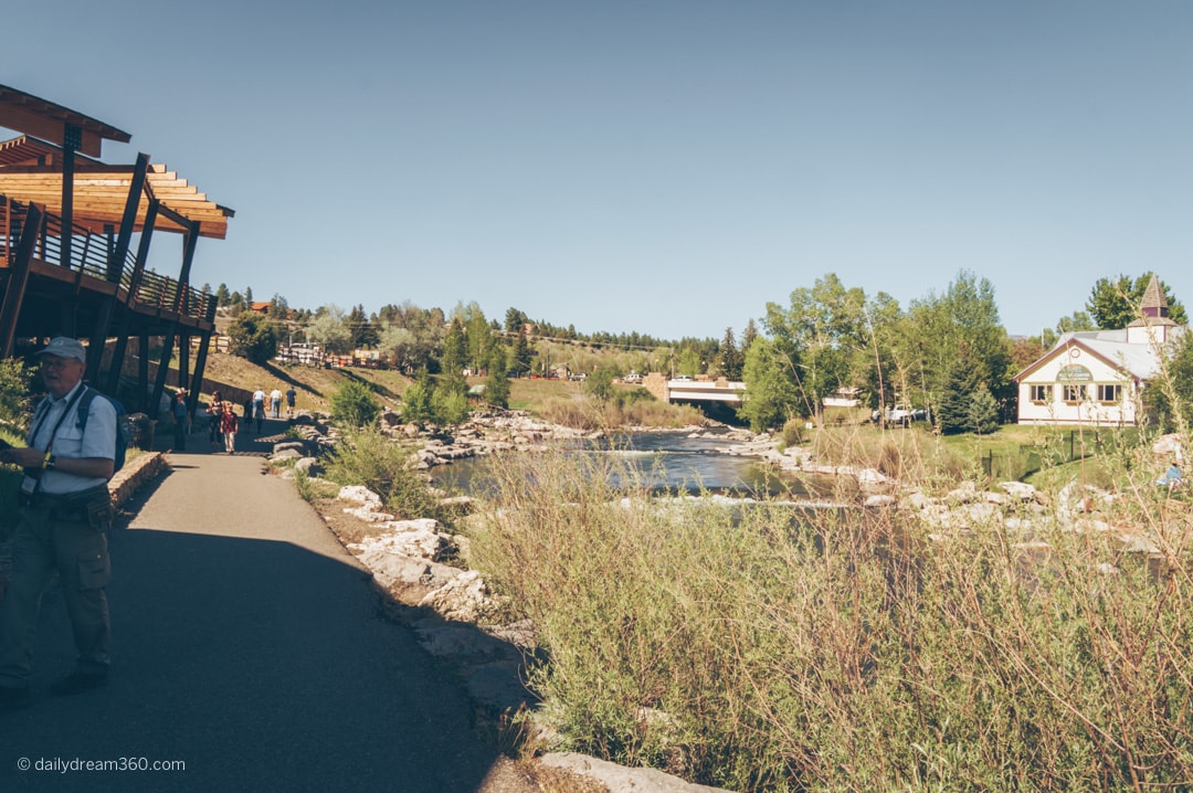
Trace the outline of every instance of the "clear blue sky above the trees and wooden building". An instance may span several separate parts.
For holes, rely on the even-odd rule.
[[[236,210],[193,280],[256,299],[719,337],[828,272],[905,306],[964,268],[1033,334],[1154,270],[1193,308],[1188,2],[39,0],[0,20],[0,82]]]

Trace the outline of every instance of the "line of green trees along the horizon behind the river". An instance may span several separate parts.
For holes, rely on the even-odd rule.
[[[373,349],[389,365],[424,376],[415,398],[441,388],[440,399],[455,395],[457,403],[466,404],[468,372],[488,376],[488,399],[501,404],[508,385],[493,380],[533,371],[550,374],[550,354],[540,351],[556,342],[596,351],[595,359],[586,359],[592,371],[585,371],[600,368],[602,379],[633,368],[744,380],[738,413],[758,430],[817,417],[826,396],[848,389],[873,409],[896,402],[927,408],[945,432],[989,432],[1014,416],[1016,372],[1064,333],[1126,327],[1139,316],[1150,278],[1151,273],[1143,273],[1098,279],[1082,309],[1062,316],[1052,328],[1041,328],[1039,336],[1018,339],[1009,337],[1001,324],[990,281],[964,270],[942,292],[932,291],[905,308],[885,292],[867,296],[861,287],[847,286],[835,273],[827,273],[811,286],[792,291],[786,303],[767,303],[761,328],[750,318],[740,339],[729,327],[719,340],[583,334],[570,324],[531,320],[517,308],[497,322],[486,317],[475,302],[462,302],[445,312],[406,301],[367,314],[363,305],[347,311],[334,304],[292,309],[274,295],[260,314],[247,310],[252,289],[231,292],[221,284],[216,297],[234,316],[228,332],[234,353],[264,363],[277,354],[282,341],[296,335],[330,354]],[[1183,305],[1166,285],[1161,287],[1169,315],[1185,324]],[[1183,354],[1180,348],[1176,353]],[[614,355],[626,371],[616,371],[608,363]],[[1188,358],[1193,385],[1193,352]],[[1173,360],[1180,373],[1183,358],[1174,354]],[[494,372],[501,376],[494,378]],[[432,380],[431,376],[437,377]],[[1162,402],[1173,407],[1172,398]]]

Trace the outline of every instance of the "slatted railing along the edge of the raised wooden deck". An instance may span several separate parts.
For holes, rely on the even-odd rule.
[[[26,213],[24,204],[0,196],[0,268],[12,265]],[[169,309],[208,322],[215,320],[216,298],[211,292],[183,286],[173,278],[150,271],[142,272],[140,283],[134,284],[136,254],[131,247],[124,261],[113,261],[115,235],[94,234],[78,224],[72,228],[69,262],[62,261],[62,218],[56,215],[45,216],[33,255],[44,262],[118,284],[126,292],[132,292],[132,299],[142,305]]]

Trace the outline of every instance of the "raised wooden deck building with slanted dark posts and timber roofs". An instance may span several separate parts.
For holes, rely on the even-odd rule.
[[[193,413],[216,302],[191,286],[191,262],[200,237],[225,237],[234,212],[147,154],[128,166],[101,162],[104,141],[128,143],[131,136],[4,85],[0,128],[21,134],[0,142],[0,355],[29,355],[55,335],[89,340],[86,378],[116,395],[135,339],[136,396],[126,404],[150,413],[177,345],[174,385],[187,389]],[[155,233],[181,236],[174,278],[146,268]],[[155,337],[161,360],[150,384]]]

